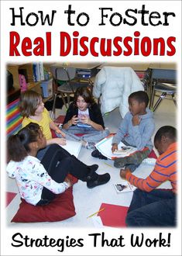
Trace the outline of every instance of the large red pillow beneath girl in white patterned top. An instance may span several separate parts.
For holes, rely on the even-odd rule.
[[[69,178],[71,178],[71,175]],[[77,178],[72,176],[72,182],[77,182]],[[75,214],[73,188],[70,187],[64,193],[57,195],[53,202],[46,206],[33,206],[22,199],[12,222],[53,222],[67,220]]]

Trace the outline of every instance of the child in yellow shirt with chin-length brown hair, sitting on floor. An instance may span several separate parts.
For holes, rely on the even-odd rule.
[[[64,138],[52,138],[50,129],[55,130],[55,132],[61,134],[65,137],[65,134],[53,123],[50,119],[49,112],[44,107],[42,96],[39,93],[28,90],[20,95],[19,99],[19,110],[21,115],[24,117],[22,120],[22,127],[25,127],[28,123],[37,123],[39,126],[43,127],[43,135],[46,137],[46,146],[50,144],[60,144],[65,145],[66,140]],[[39,150],[37,157],[39,160],[43,158],[46,149]]]

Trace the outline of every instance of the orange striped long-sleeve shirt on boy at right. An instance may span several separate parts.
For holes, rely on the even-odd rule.
[[[143,179],[132,173],[126,174],[127,181],[137,188],[150,192],[163,182],[170,181],[172,191],[177,192],[177,143],[170,144],[166,152],[160,155],[151,174]]]

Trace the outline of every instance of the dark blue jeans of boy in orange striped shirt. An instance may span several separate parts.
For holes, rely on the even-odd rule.
[[[175,227],[176,195],[167,189],[136,189],[126,216],[128,227]]]

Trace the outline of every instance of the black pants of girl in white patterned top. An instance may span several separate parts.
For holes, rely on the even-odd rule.
[[[71,155],[67,150],[64,150],[64,148],[57,144],[50,145],[49,149],[46,150],[41,164],[43,164],[50,177],[58,183],[64,182],[64,179],[69,173],[82,181],[89,174],[89,168],[86,164],[79,161],[77,157],[74,157],[74,155]],[[36,205],[46,205],[55,197],[56,195],[53,192],[44,187],[41,200]]]

